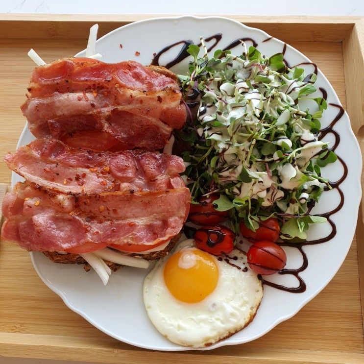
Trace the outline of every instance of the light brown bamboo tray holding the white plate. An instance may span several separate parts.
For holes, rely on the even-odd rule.
[[[0,156],[14,151],[24,127],[19,106],[33,69],[34,48],[46,61],[86,46],[89,28],[99,35],[144,16],[0,15]],[[335,88],[364,147],[364,18],[243,17],[306,54]],[[10,171],[0,162],[0,182]],[[39,279],[29,254],[0,244],[0,356],[106,363],[364,363],[364,223],[330,284],[297,315],[264,337],[210,352],[156,352],[108,337]]]

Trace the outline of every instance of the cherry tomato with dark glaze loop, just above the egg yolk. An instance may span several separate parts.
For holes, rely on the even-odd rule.
[[[199,249],[213,255],[229,254],[234,249],[235,234],[225,226],[203,226],[194,233]]]

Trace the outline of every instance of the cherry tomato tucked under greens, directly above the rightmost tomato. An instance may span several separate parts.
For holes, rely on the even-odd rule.
[[[267,220],[260,221],[259,227],[255,231],[246,227],[244,221],[240,224],[240,232],[250,243],[259,242],[261,240],[267,240],[274,243],[278,240],[280,231],[281,228],[279,227],[276,218],[268,218]]]

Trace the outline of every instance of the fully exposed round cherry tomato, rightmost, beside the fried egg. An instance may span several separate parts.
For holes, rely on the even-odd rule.
[[[273,242],[263,240],[250,246],[247,254],[249,267],[258,274],[274,274],[281,271],[287,262],[284,250]]]

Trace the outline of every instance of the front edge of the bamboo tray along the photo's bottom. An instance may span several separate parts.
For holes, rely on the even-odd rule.
[[[99,340],[85,338],[85,346],[74,346],[72,337],[57,337],[58,344],[49,335],[35,334],[14,334],[0,333],[0,355],[49,359],[57,355],[58,360],[75,360],[91,361],[98,363],[145,363],[146,355],[149,364],[160,363],[194,363],[198,361],[201,364],[363,364],[364,354],[362,353],[343,353],[343,352],[320,352],[287,349],[285,357],[282,358],[281,350],[260,350],[249,349],[243,357],[235,355],[217,355],[213,351],[188,351],[188,352],[160,352],[132,348],[131,350],[119,349],[118,344],[114,350],[110,351],[108,340],[99,342]],[[19,344],[19,336],[22,337],[22,344]],[[78,338],[77,338],[78,340]],[[100,345],[101,348],[95,349],[94,345]],[[232,352],[233,353],[233,352]],[[206,355],[207,354],[207,355]],[[172,359],[171,359],[172,357]]]

